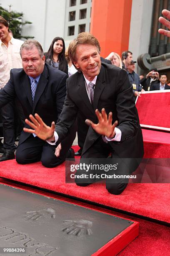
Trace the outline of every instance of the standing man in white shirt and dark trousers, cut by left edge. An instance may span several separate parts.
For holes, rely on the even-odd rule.
[[[0,89],[2,89],[10,79],[10,70],[22,67],[20,57],[20,46],[22,44],[23,41],[10,36],[8,23],[0,16]],[[11,101],[1,108],[4,154],[0,158],[0,161],[15,158],[14,110],[14,101]],[[22,115],[22,111],[21,107],[17,105],[17,112]]]

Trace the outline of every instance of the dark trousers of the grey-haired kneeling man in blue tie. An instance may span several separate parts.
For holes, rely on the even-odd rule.
[[[37,136],[34,137],[30,134],[23,143],[19,142],[16,151],[16,161],[18,164],[30,164],[41,161],[42,165],[48,168],[62,164],[65,158],[70,158],[70,151],[68,150],[75,139],[75,133],[75,125],[72,125],[67,137],[61,142],[62,149],[59,157],[56,157],[54,154],[56,146],[52,146]]]

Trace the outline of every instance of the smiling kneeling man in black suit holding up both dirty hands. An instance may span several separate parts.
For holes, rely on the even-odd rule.
[[[132,173],[139,164],[136,158],[143,157],[143,138],[128,74],[113,65],[101,64],[99,42],[90,33],[80,33],[70,43],[68,53],[79,72],[67,79],[67,96],[56,129],[54,124],[45,125],[35,114],[35,117],[30,115],[32,122],[25,120],[32,129],[24,128],[24,131],[35,133],[44,140],[60,142],[79,113],[90,125],[82,161],[107,158],[111,154],[113,160],[118,159],[119,174]],[[82,172],[86,171],[78,170],[77,174]],[[97,180],[77,177],[75,182],[87,186]],[[119,195],[127,184],[128,179],[124,177],[115,182],[106,179],[107,190],[115,195]]]

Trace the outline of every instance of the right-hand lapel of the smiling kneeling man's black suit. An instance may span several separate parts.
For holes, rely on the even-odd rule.
[[[96,84],[95,84],[95,92],[94,92],[94,109],[98,108],[98,101],[102,91],[105,88],[105,69],[101,66],[100,73],[97,76]]]

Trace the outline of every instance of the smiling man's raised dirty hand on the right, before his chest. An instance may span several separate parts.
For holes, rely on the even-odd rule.
[[[117,121],[112,124],[112,112],[106,114],[104,108],[102,108],[101,113],[98,109],[95,110],[95,114],[99,120],[99,123],[95,124],[91,120],[86,119],[85,123],[93,128],[97,133],[107,136],[108,138],[113,138],[115,136],[115,127],[117,126]]]

